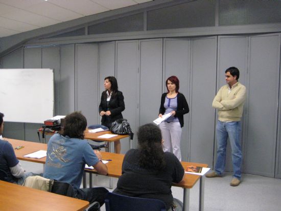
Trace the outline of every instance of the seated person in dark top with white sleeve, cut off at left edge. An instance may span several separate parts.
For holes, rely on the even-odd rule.
[[[0,135],[4,131],[4,114],[0,113]],[[35,176],[41,174],[34,174],[32,172],[25,172],[20,162],[16,158],[13,146],[8,141],[0,139],[0,170],[7,173],[5,180],[7,182],[16,183],[22,185],[25,179],[29,176]]]

